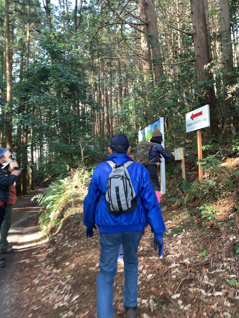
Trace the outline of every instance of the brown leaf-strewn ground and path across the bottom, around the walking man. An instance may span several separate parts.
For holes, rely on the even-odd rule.
[[[239,158],[228,158],[225,165],[236,169]],[[218,202],[223,226],[203,222],[197,204],[188,214],[178,203],[169,204],[167,195],[162,197],[162,205],[168,205],[163,213],[165,248],[159,259],[147,227],[138,252],[138,317],[239,317],[239,263],[233,248],[239,226],[237,195],[234,189]],[[93,238],[86,238],[83,202],[78,208],[78,213],[66,214],[61,229],[49,239],[41,237],[35,202],[27,201],[17,209],[11,235],[16,235],[16,222],[26,214],[31,217],[18,237],[10,235],[15,252],[6,256],[6,266],[0,268],[0,318],[96,318],[99,234],[95,230]],[[123,284],[119,264],[115,318],[126,315]]]

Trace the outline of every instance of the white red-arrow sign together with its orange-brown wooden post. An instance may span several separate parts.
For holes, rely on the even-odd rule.
[[[202,159],[202,133],[201,128],[210,126],[209,105],[205,105],[186,114],[186,133],[198,130],[198,159]],[[202,167],[199,165],[199,182],[203,179]]]

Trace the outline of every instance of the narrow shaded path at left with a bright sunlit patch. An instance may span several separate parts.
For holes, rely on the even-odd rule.
[[[45,188],[37,188],[36,193],[43,192]],[[14,205],[12,210],[12,226],[9,231],[8,242],[13,245],[13,253],[1,254],[6,258],[6,266],[0,268],[0,317],[14,318],[26,317],[22,312],[21,295],[22,280],[20,279],[23,260],[31,254],[34,246],[39,244],[38,217],[40,207],[31,202],[33,195],[27,196]],[[18,315],[13,314],[13,307],[18,308]]]

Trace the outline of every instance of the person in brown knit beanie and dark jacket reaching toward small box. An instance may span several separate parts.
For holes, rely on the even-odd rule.
[[[149,161],[151,161],[151,160],[152,161],[145,168],[149,172],[150,181],[151,181],[152,186],[156,192],[156,196],[160,200],[160,184],[159,184],[158,175],[157,175],[156,162],[159,162],[159,163],[161,162],[159,155],[162,155],[163,158],[165,158],[165,159],[170,159],[173,156],[175,156],[175,152],[170,152],[168,154],[167,151],[164,150],[163,146],[161,145],[161,143],[163,142],[163,134],[161,133],[161,131],[158,130],[158,128],[154,128],[150,142],[154,143],[152,145],[152,147],[150,148],[149,155],[148,155]],[[167,210],[166,206],[160,206],[160,208],[161,208],[162,212]]]

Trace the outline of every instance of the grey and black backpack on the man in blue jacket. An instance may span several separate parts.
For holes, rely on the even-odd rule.
[[[122,214],[134,211],[137,208],[137,197],[127,170],[134,161],[127,161],[119,166],[111,160],[106,163],[112,168],[105,194],[109,213]]]

